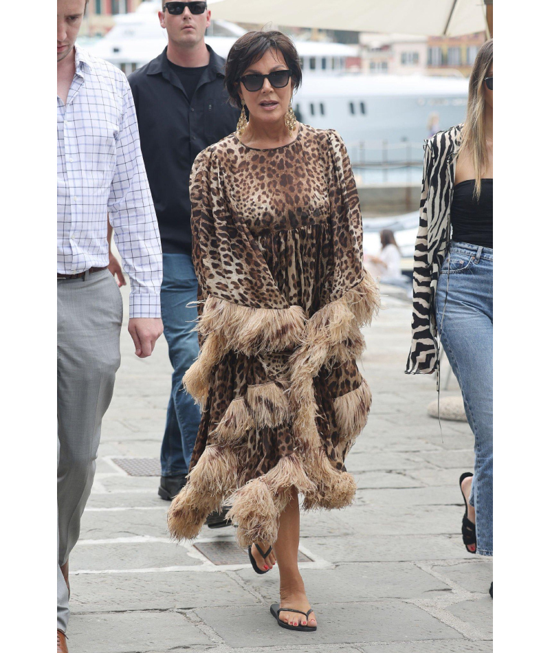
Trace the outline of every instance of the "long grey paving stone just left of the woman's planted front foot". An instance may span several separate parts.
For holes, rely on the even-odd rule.
[[[72,612],[187,610],[252,606],[257,601],[223,572],[71,575]]]

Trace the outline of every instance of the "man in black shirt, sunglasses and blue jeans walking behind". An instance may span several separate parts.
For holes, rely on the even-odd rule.
[[[189,175],[200,151],[235,131],[239,111],[230,107],[223,88],[225,61],[204,42],[210,25],[206,2],[166,2],[159,20],[168,47],[128,79],[163,252],[161,314],[174,373],[159,496],[170,500],[185,483],[200,421],[199,407],[181,390],[181,379],[199,353],[192,331],[197,309],[187,307],[197,301]]]

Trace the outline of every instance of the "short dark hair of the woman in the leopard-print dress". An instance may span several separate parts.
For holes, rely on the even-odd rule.
[[[229,101],[234,107],[241,106],[237,89],[243,72],[256,63],[267,50],[281,52],[289,67],[292,88],[296,90],[302,82],[302,69],[296,46],[283,32],[247,32],[233,43],[225,63],[225,88],[228,89]]]

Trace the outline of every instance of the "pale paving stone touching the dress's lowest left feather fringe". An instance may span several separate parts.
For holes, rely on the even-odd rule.
[[[165,510],[126,510],[123,513],[124,518],[121,518],[120,511],[85,511],[80,526],[80,539],[107,540],[128,538],[130,535],[168,537],[166,526],[168,501],[164,508]]]

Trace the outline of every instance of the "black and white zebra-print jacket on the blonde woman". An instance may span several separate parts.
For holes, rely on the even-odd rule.
[[[431,374],[439,370],[435,291],[451,237],[454,164],[462,128],[463,124],[459,124],[424,142],[420,226],[412,276],[412,345],[407,374]]]

